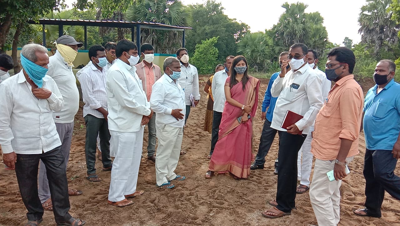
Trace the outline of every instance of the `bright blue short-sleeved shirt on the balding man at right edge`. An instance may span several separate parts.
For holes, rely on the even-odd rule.
[[[364,134],[368,150],[393,150],[400,133],[400,84],[393,79],[380,93],[368,90],[364,101]]]

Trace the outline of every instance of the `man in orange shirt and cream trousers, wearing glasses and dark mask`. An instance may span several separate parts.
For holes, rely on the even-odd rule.
[[[335,81],[315,121],[311,153],[316,158],[310,188],[314,214],[321,226],[336,226],[340,221],[340,185],[346,165],[358,151],[364,95],[354,80],[356,58],[345,47],[328,53],[326,77]],[[329,128],[329,129],[327,129]],[[327,172],[333,170],[335,180]]]

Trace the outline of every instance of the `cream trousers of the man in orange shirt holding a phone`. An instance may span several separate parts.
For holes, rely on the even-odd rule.
[[[350,163],[354,156],[346,159]],[[327,172],[333,170],[335,161],[315,160],[310,186],[310,201],[318,225],[336,226],[340,221],[340,185],[342,180],[329,181]]]

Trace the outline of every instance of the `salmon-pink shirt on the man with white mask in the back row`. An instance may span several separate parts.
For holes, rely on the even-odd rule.
[[[151,89],[154,83],[161,77],[161,69],[154,63],[151,64],[151,67],[147,67],[144,62],[140,62],[135,65],[136,73],[139,78],[142,80],[143,90],[146,93],[147,101],[150,101]]]

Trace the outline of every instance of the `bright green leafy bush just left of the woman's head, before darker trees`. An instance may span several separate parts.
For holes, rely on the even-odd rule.
[[[202,41],[201,44],[196,44],[193,57],[190,58],[190,63],[196,65],[198,73],[201,75],[214,72],[215,66],[218,64],[218,49],[215,44],[218,42],[218,37],[212,37]]]

